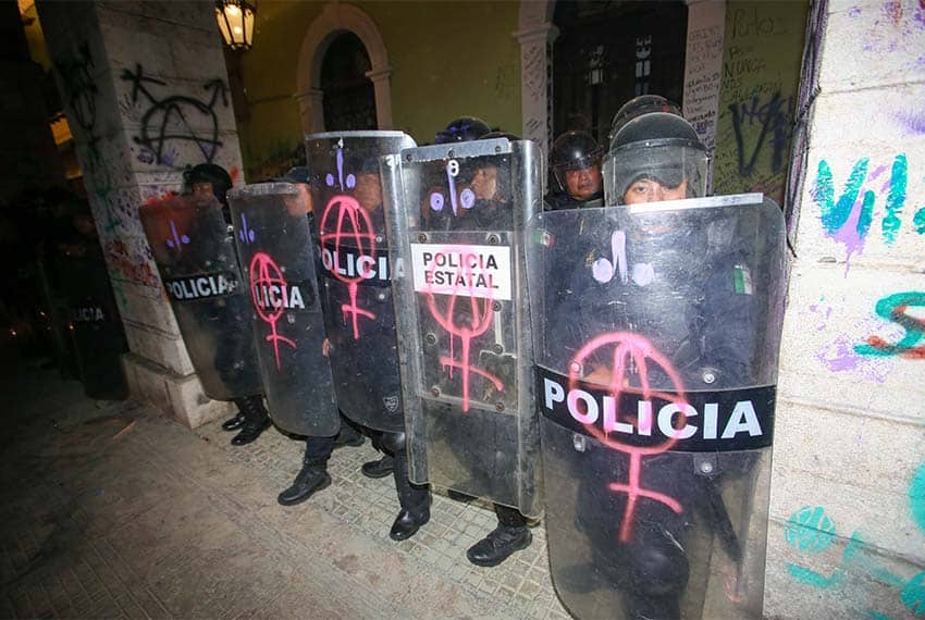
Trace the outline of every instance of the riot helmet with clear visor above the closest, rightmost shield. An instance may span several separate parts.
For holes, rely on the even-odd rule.
[[[690,123],[677,114],[650,112],[625,124],[610,141],[604,196],[607,204],[626,204],[630,186],[648,179],[680,193],[665,199],[699,198],[706,194],[706,148]]]

